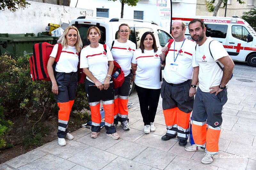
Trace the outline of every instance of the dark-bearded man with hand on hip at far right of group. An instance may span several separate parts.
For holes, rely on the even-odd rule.
[[[226,85],[231,78],[234,63],[219,41],[206,37],[204,21],[193,19],[188,28],[192,40],[197,42],[196,55],[193,56],[196,65],[193,67],[199,66],[199,85],[192,113],[192,135],[195,144],[185,150],[205,151],[201,162],[210,164],[214,155],[219,152],[222,107],[228,100]],[[223,71],[217,62],[224,67]]]

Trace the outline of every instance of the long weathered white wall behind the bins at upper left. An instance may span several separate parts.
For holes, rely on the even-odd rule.
[[[48,23],[61,24],[81,16],[92,16],[93,11],[69,6],[27,1],[28,8],[16,12],[0,11],[0,33],[44,32]]]

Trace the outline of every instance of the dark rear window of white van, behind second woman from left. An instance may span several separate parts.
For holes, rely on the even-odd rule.
[[[73,26],[76,26],[76,25],[73,24]],[[87,31],[88,31],[88,28],[90,26],[95,26],[95,25],[91,25],[91,24],[78,24],[76,26],[76,28],[79,31],[81,40],[83,42],[83,46],[90,44],[90,41],[87,39]],[[103,26],[99,26],[98,28],[100,29],[100,32],[101,32],[100,33],[101,34],[100,44],[106,44],[106,28],[103,27]]]

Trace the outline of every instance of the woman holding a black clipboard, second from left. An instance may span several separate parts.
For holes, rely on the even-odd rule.
[[[80,68],[83,68],[83,72],[86,75],[85,80],[85,92],[88,96],[93,95],[88,91],[88,87],[91,85],[97,86],[100,92],[109,88],[110,78],[114,68],[113,57],[110,49],[106,47],[105,51],[100,41],[100,30],[96,26],[91,26],[87,31],[87,39],[90,41],[90,45],[83,48],[80,57]],[[102,93],[103,94],[103,93]],[[112,93],[113,94],[113,93]],[[97,138],[100,133],[100,100],[93,102],[87,98],[91,108],[92,116],[92,138]],[[107,130],[107,136],[113,139],[118,139],[119,135],[116,133],[116,127],[114,122],[114,95],[106,100],[102,101],[105,111],[105,129]]]

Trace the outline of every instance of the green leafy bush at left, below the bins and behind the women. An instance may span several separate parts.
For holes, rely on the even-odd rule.
[[[27,143],[33,143],[36,146],[40,145],[40,139],[46,133],[40,133],[40,130],[36,129],[42,128],[45,120],[58,116],[59,108],[51,89],[51,82],[32,81],[29,56],[16,58],[8,55],[0,56],[0,103],[4,109],[3,115],[5,118],[25,117],[23,127],[33,126],[27,131],[29,133],[27,135],[28,138],[23,136],[24,141],[27,140]],[[72,115],[81,119],[81,112],[85,109],[89,110],[89,108],[84,92],[84,84],[79,84],[72,107],[72,112],[74,112]],[[88,118],[88,116],[84,117]],[[21,133],[24,132],[23,127],[21,128]],[[7,131],[3,124],[0,126],[0,137],[2,131]],[[31,135],[31,139],[29,139],[29,135]],[[28,140],[34,141],[29,142]]]

